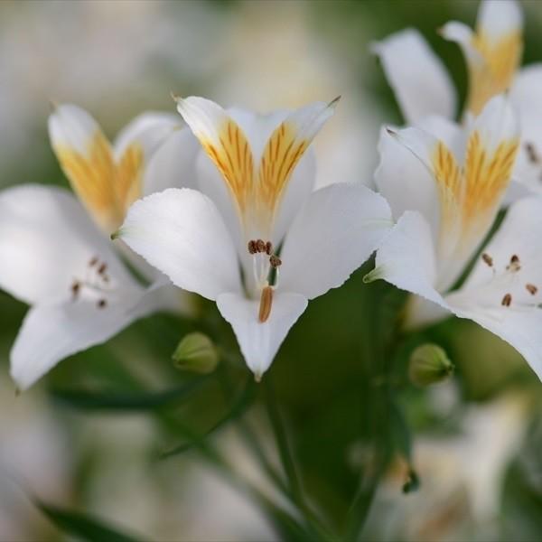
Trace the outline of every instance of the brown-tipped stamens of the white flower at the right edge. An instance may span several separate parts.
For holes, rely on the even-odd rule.
[[[493,271],[493,277],[488,286],[497,285],[504,292],[499,299],[501,306],[509,307],[513,304],[515,307],[542,308],[540,301],[537,301],[538,286],[532,282],[520,280],[522,265],[517,254],[512,254],[508,265],[500,271],[495,268],[493,258],[488,253],[482,254],[481,259]]]

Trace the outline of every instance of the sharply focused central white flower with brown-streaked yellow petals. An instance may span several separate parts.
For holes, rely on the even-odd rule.
[[[199,179],[209,195],[171,189],[136,201],[118,237],[173,284],[216,300],[259,379],[307,301],[377,248],[388,203],[360,184],[312,192],[304,153],[334,102],[268,116],[204,98],[177,104],[210,158],[201,170],[216,166]]]

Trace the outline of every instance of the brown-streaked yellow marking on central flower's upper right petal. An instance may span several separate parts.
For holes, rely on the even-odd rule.
[[[262,155],[258,172],[257,201],[272,220],[277,205],[310,142],[296,138],[296,126],[283,122],[276,128]]]

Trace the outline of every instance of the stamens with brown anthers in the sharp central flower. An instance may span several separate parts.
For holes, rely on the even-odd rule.
[[[279,267],[282,261],[274,254],[271,241],[263,239],[248,241],[248,254],[252,256],[254,282],[257,289],[261,290],[257,320],[264,323],[271,314],[273,292],[278,285]]]

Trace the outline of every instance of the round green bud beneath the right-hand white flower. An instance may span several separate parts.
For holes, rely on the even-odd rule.
[[[416,386],[425,387],[442,382],[453,374],[453,363],[436,344],[422,344],[410,355],[408,376]]]

